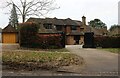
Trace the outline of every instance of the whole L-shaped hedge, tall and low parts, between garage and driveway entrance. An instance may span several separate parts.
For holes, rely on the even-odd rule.
[[[23,23],[20,28],[20,45],[28,48],[54,49],[64,48],[61,42],[63,35],[60,33],[50,34],[38,33],[39,27],[36,23]]]

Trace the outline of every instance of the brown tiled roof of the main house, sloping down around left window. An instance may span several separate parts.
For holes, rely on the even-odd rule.
[[[58,32],[54,25],[59,26],[81,26],[82,23],[80,21],[72,20],[70,18],[68,19],[58,19],[58,18],[29,18],[27,22],[36,22],[39,23],[40,29],[39,33],[56,33]],[[50,23],[52,24],[52,29],[45,29],[43,24]]]

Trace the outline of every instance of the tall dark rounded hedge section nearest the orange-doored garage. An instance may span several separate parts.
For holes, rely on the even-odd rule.
[[[38,25],[36,23],[23,23],[20,28],[20,46],[33,47],[35,46],[34,40],[37,39]]]

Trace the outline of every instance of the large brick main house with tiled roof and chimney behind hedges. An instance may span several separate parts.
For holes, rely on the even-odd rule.
[[[38,23],[39,33],[58,33],[64,32],[66,44],[84,44],[84,32],[86,31],[86,17],[79,20],[58,19],[58,18],[29,18],[27,22]]]

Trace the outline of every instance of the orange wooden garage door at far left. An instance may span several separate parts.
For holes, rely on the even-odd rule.
[[[2,42],[3,43],[16,43],[16,33],[3,33]]]

